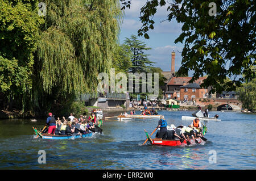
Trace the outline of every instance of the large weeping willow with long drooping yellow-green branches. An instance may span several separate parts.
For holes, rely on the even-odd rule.
[[[35,63],[37,106],[39,99],[49,105],[49,100],[63,103],[97,91],[98,73],[109,73],[112,65],[122,19],[118,0],[45,3],[47,13]]]

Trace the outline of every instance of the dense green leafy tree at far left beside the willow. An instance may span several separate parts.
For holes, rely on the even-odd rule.
[[[0,93],[5,109],[23,105],[32,89],[34,52],[39,27],[38,1],[0,0]],[[3,105],[2,104],[2,105]]]

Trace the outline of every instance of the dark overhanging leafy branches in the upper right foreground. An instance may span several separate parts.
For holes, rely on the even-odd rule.
[[[132,1],[121,2],[122,9],[133,5]],[[149,38],[147,32],[154,29],[158,6],[167,6],[167,20],[176,19],[183,24],[183,32],[175,40],[184,43],[179,74],[193,70],[191,82],[207,74],[201,86],[212,86],[213,93],[236,90],[242,82],[255,78],[255,71],[250,69],[256,65],[255,0],[147,1],[141,8],[143,26],[138,30],[139,36]],[[222,86],[226,76],[232,78],[232,83]]]

